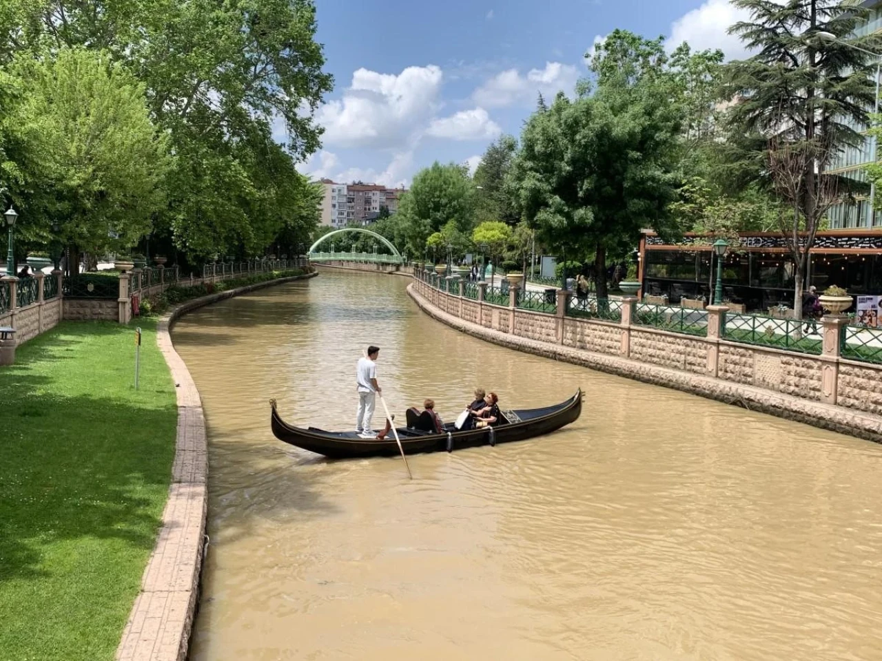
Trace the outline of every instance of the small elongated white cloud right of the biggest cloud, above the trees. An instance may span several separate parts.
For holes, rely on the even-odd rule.
[[[570,64],[547,62],[544,69],[531,69],[521,75],[517,69],[497,73],[472,94],[479,106],[498,108],[534,103],[539,93],[553,97],[559,91],[572,93],[579,71]]]

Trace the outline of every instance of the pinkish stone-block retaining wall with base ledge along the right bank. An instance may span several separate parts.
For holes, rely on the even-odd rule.
[[[421,279],[407,292],[430,316],[499,345],[882,442],[882,368],[870,364],[738,345],[710,327],[700,338],[632,326],[628,313],[613,323],[463,301],[460,316],[451,305],[458,296]],[[825,402],[832,393],[835,405]]]

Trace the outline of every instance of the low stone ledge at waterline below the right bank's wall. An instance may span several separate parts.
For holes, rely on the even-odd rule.
[[[675,369],[650,365],[637,360],[592,353],[572,346],[552,345],[534,339],[520,338],[501,331],[493,331],[476,323],[467,322],[435,307],[415,291],[413,284],[407,286],[407,294],[423,312],[441,323],[496,345],[533,353],[537,356],[561,360],[595,369],[608,374],[625,376],[637,381],[683,390],[693,395],[716,399],[726,404],[743,405],[751,411],[770,413],[786,420],[796,420],[812,427],[829,429],[868,441],[882,442],[882,416],[873,415],[811,402],[772,390],[723,381],[710,376],[693,375]]]

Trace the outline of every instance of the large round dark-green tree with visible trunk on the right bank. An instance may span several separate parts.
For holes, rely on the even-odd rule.
[[[607,251],[632,246],[644,227],[666,227],[679,182],[680,122],[669,91],[652,77],[633,78],[628,67],[613,76],[607,63],[597,64],[592,95],[558,94],[530,117],[512,188],[528,226],[563,250],[564,261],[594,250],[597,293],[605,298]]]

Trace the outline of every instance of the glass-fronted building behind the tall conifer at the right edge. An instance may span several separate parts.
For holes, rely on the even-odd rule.
[[[882,31],[882,0],[864,0],[864,7],[870,7],[870,15],[862,26],[855,30],[855,36],[861,37],[867,34]],[[877,146],[877,159],[882,156],[882,150]],[[872,138],[867,137],[863,145],[847,147],[840,152],[833,163],[830,164],[830,172],[847,176],[859,182],[867,180],[867,172],[864,169],[871,163],[873,153]],[[830,219],[831,229],[882,229],[882,211],[873,212],[869,197],[857,197],[853,204],[843,202],[834,204],[827,212]]]

